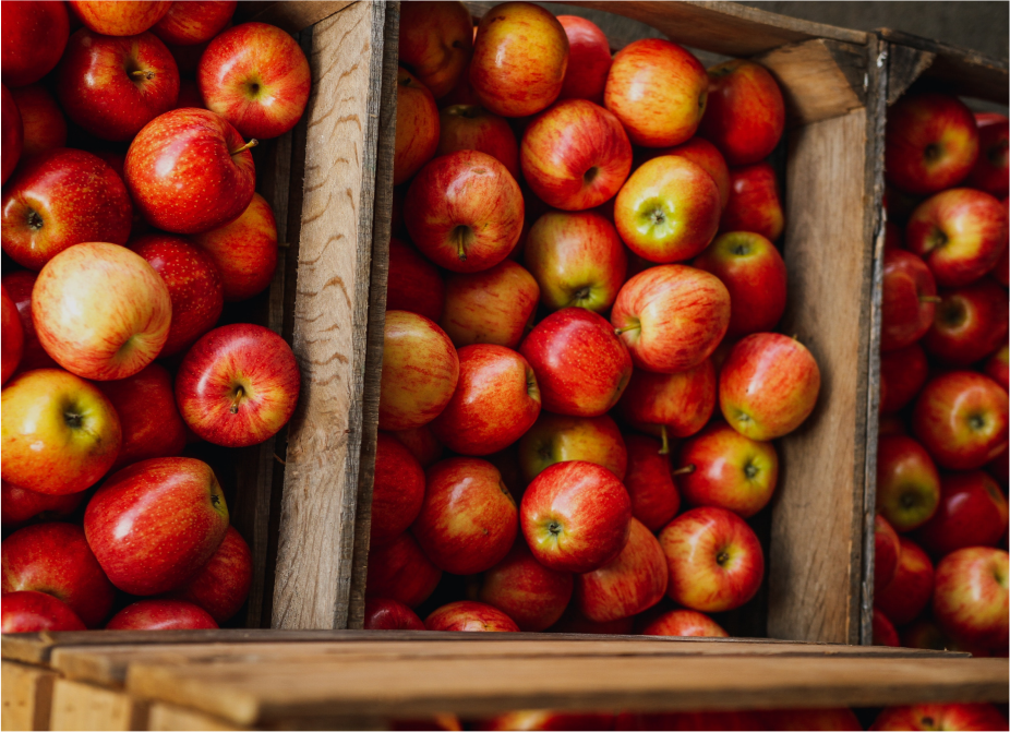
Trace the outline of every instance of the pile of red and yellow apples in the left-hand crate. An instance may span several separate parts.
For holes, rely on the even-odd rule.
[[[218,321],[273,277],[249,149],[301,118],[308,61],[236,0],[2,8],[0,633],[217,627],[250,550],[187,445],[298,400],[288,345]]]

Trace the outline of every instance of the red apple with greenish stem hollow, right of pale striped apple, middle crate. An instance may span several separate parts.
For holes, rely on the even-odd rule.
[[[730,291],[726,336],[775,329],[785,312],[786,274],[782,255],[768,239],[750,231],[730,231],[692,264],[719,277]],[[928,274],[925,264],[923,269]],[[885,291],[886,287],[885,280]]]

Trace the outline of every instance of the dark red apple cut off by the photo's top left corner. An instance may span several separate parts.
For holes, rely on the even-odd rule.
[[[61,0],[21,0],[0,8],[0,80],[7,86],[34,84],[56,68],[67,47],[67,5]]]

